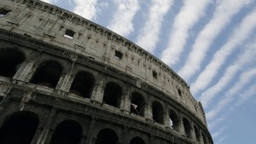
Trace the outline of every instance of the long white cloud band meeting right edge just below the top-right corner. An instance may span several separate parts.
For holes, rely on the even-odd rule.
[[[208,84],[212,82],[220,66],[222,66],[227,59],[227,57],[232,54],[235,49],[238,49],[238,45],[243,43],[243,41],[249,37],[256,27],[256,9],[252,13],[247,14],[246,18],[241,21],[240,26],[238,26],[227,43],[224,44],[214,55],[210,63],[206,68],[200,73],[199,77],[195,80],[195,83],[191,84],[191,91],[194,95],[201,89],[205,89]]]

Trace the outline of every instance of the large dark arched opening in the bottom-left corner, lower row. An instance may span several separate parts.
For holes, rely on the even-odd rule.
[[[5,119],[0,129],[1,144],[30,144],[39,118],[32,112],[15,112]]]

